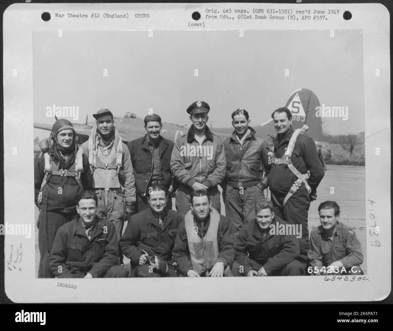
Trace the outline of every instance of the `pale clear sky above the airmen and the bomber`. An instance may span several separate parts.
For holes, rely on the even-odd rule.
[[[108,75],[103,75],[107,69]],[[198,69],[195,77],[194,70]],[[285,70],[289,76],[285,76]],[[270,118],[298,88],[321,105],[347,106],[328,118],[331,134],[364,131],[360,30],[37,31],[33,33],[34,121],[53,124],[46,107],[78,106],[79,120],[100,108],[115,116],[149,108],[163,121],[190,124],[187,107],[206,101],[213,129],[245,108],[251,125]],[[210,126],[210,123],[209,123]],[[35,129],[35,136],[48,132]]]

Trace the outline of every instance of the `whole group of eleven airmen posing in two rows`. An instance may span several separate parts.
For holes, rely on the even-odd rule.
[[[175,143],[160,135],[157,114],[127,145],[108,109],[93,115],[80,147],[70,121],[57,120],[34,161],[38,277],[363,274],[360,243],[336,202],[320,204],[321,225],[309,235],[324,169],[291,112],[273,112],[277,134],[266,141],[237,109],[222,142],[206,125],[209,111],[192,103],[192,125]]]

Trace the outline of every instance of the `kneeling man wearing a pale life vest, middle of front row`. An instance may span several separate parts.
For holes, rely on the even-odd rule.
[[[173,256],[187,277],[232,276],[235,240],[229,219],[211,207],[205,190],[191,193],[190,207],[178,228]]]

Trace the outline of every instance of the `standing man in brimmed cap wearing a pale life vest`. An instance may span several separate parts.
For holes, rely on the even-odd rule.
[[[124,219],[135,213],[135,179],[130,152],[121,141],[109,109],[94,114],[97,125],[81,145],[93,173],[93,191],[98,197],[97,216],[112,221],[118,240]]]

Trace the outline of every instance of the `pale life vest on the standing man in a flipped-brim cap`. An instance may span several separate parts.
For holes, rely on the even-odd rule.
[[[96,189],[120,187],[118,175],[122,166],[123,143],[115,127],[114,132],[114,140],[105,148],[99,146],[101,138],[97,134],[97,126],[93,127],[89,136],[89,164],[94,179],[93,187]],[[114,148],[110,149],[109,154],[105,154],[112,144]]]

